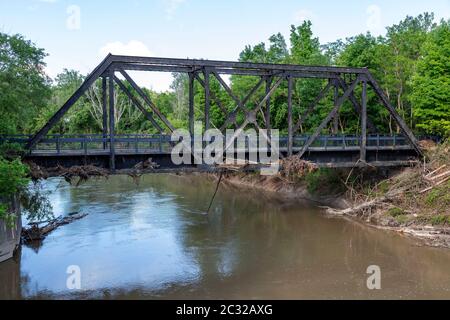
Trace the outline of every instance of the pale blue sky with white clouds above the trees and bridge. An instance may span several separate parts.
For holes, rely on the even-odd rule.
[[[450,0],[202,1],[0,0],[0,31],[21,33],[45,48],[47,72],[92,70],[106,53],[236,60],[246,44],[291,24],[313,22],[321,43],[364,33],[384,34],[406,15],[432,11],[450,18]],[[138,75],[165,90],[168,74]]]

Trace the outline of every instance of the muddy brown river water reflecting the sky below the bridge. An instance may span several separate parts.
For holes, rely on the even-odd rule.
[[[450,250],[202,176],[50,179],[56,215],[89,215],[0,264],[0,298],[450,298]],[[381,290],[366,273],[380,267]],[[68,274],[73,267],[76,274]],[[69,268],[69,270],[68,270]],[[79,273],[77,271],[80,271]],[[79,274],[80,289],[73,289]]]

